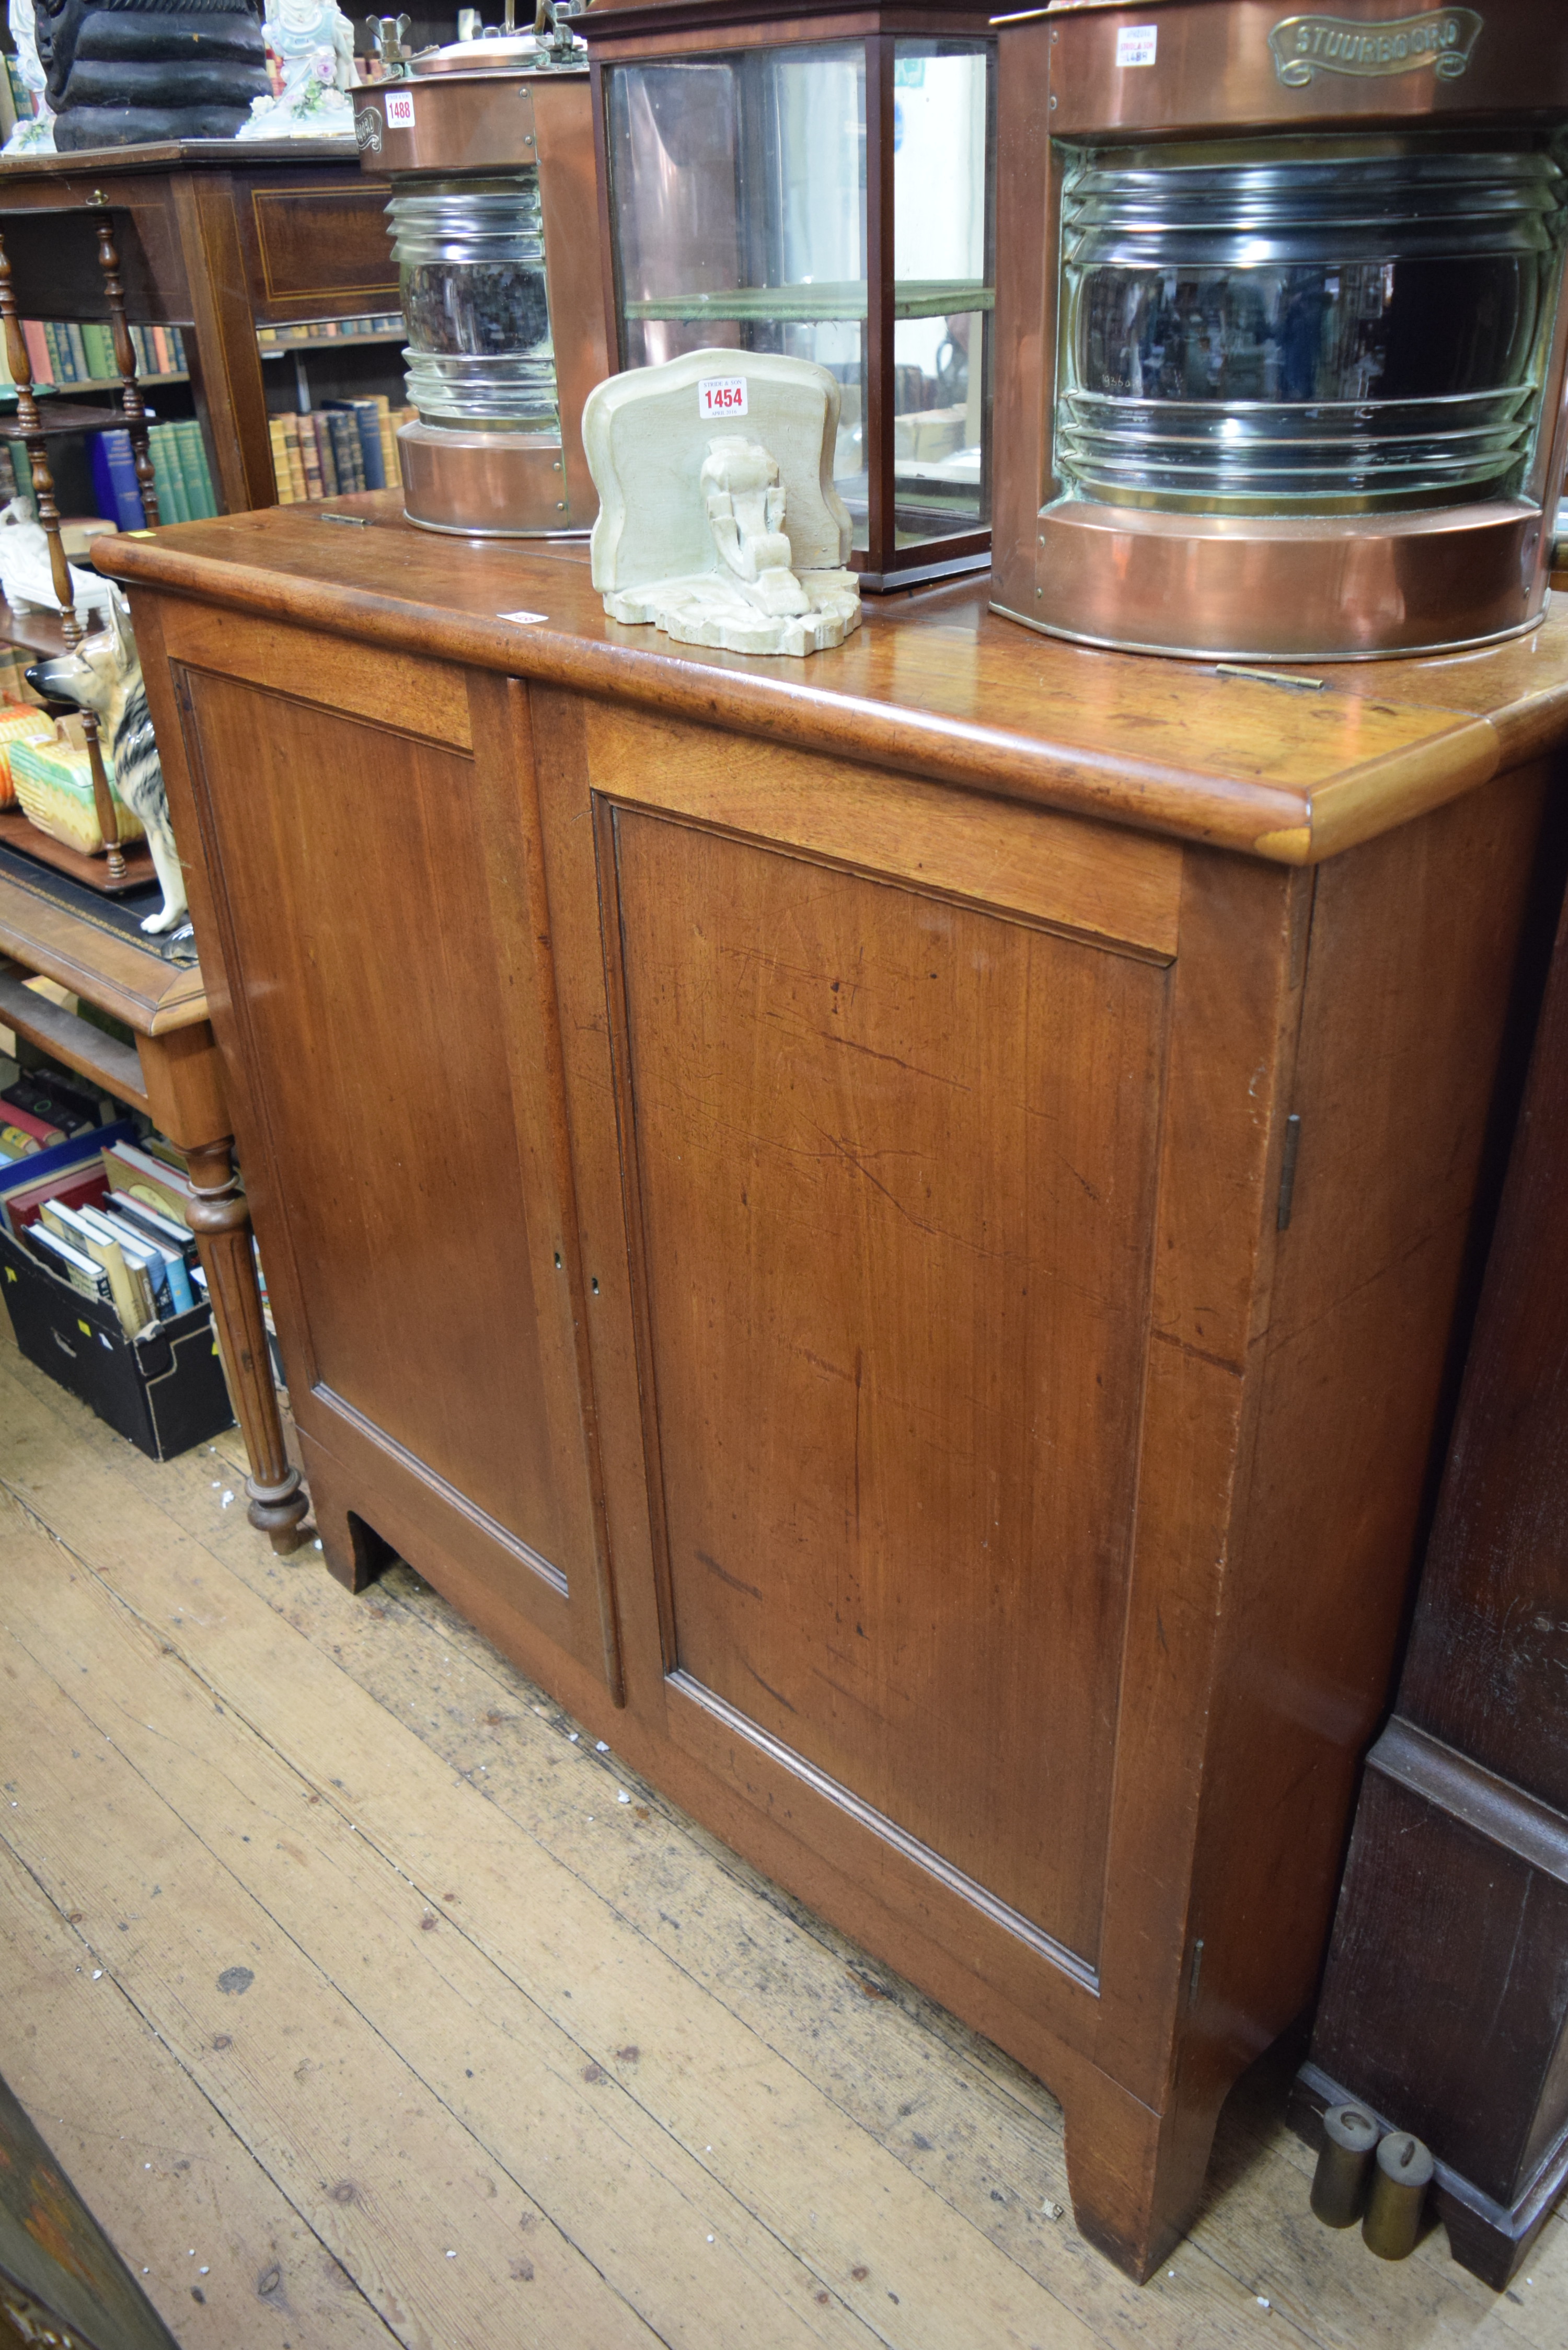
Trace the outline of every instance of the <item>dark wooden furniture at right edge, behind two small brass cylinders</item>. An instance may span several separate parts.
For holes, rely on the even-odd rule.
[[[1495,2287],[1568,2186],[1566,1676],[1568,914],[1298,2106],[1418,2131]]]

